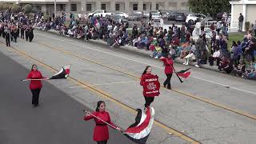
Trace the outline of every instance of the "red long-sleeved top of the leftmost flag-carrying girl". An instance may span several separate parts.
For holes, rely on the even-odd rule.
[[[42,74],[38,70],[32,70],[30,71],[30,74],[27,75],[27,79],[39,79],[44,78],[42,77]],[[42,88],[42,82],[41,81],[30,81],[30,90],[34,89],[41,89]]]

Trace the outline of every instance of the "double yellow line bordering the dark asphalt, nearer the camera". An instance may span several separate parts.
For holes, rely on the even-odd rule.
[[[1,42],[1,41],[0,41]],[[1,42],[4,46],[5,44],[3,42]],[[54,67],[47,65],[46,63],[40,62],[39,60],[37,60],[36,58],[31,57],[29,54],[26,54],[25,52],[22,52],[21,50],[17,50],[16,48],[14,48],[13,46],[10,46],[10,48],[12,50],[14,50],[14,52],[16,52],[19,55],[22,55],[23,57],[30,59],[34,62],[38,62],[41,66],[46,67],[46,69],[52,71],[52,72],[58,72],[58,70],[54,69]],[[121,71],[120,71],[121,72]],[[130,74],[131,75],[131,74]],[[82,86],[84,89],[87,90],[91,90],[94,93],[102,96],[102,98],[106,98],[108,100],[110,100],[110,102],[114,102],[115,104],[117,104],[118,106],[122,106],[122,108],[130,111],[131,113],[135,114],[136,110],[134,110],[134,108],[127,106],[126,104],[112,98],[110,96],[110,94],[107,94],[106,92],[99,90],[97,88],[95,88],[94,86],[90,86],[90,84],[87,84],[86,82],[82,82],[78,79],[75,78],[71,78],[69,77],[69,79],[73,82],[76,82],[79,86]],[[201,142],[198,142],[197,140],[194,140],[194,138],[190,138],[189,136],[187,136],[186,134],[182,134],[182,132],[179,132],[178,130],[175,130],[173,128],[170,128],[168,126],[166,126],[165,124],[163,124],[162,122],[159,122],[158,120],[154,120],[154,124],[158,127],[161,127],[163,130],[166,130],[168,133],[172,133],[176,136],[178,136],[179,138],[182,138],[184,140],[186,140],[187,142],[191,142],[193,144],[200,144]]]

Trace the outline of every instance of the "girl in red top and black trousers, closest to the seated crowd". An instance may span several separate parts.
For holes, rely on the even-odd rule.
[[[165,67],[165,73],[166,73],[166,81],[163,82],[163,86],[166,87],[167,85],[167,89],[171,90],[171,86],[170,86],[170,79],[173,75],[174,72],[174,60],[173,58],[171,58],[171,54],[167,55],[167,58],[162,57],[160,58],[160,60],[164,63]]]

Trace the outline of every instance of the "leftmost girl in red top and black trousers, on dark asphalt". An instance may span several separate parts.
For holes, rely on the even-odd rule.
[[[45,77],[42,77],[41,72],[38,70],[38,66],[33,65],[30,70],[30,73],[27,75],[26,78],[30,81],[30,90],[32,93],[32,104],[34,105],[34,107],[37,107],[40,90],[42,88],[42,82],[39,79],[42,79]],[[33,79],[33,80],[31,80],[31,79]],[[45,79],[49,79],[49,78],[45,78]]]

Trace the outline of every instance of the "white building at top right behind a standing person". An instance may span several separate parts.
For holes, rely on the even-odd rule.
[[[230,30],[238,30],[238,18],[241,13],[244,16],[242,31],[246,31],[246,22],[250,22],[250,25],[256,20],[256,0],[237,0],[231,1],[231,23]]]

